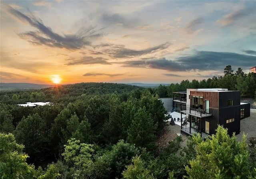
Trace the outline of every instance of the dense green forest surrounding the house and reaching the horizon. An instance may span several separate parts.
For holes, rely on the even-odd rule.
[[[194,136],[183,149],[180,137],[161,151],[157,139],[166,125],[166,110],[159,97],[172,96],[172,92],[187,88],[228,88],[252,98],[255,82],[255,74],[244,74],[242,69],[234,74],[228,67],[222,79],[186,80],[156,89],[79,83],[1,91],[0,176],[3,179],[181,179],[206,172],[209,177],[253,178],[256,176],[255,150],[249,153],[245,141],[240,143],[235,136],[230,138],[221,127],[216,136],[206,141]],[[54,105],[17,106],[47,101]],[[216,160],[213,151],[225,145],[235,146],[236,152],[230,149],[220,154],[228,156],[233,152],[234,161],[231,158],[229,161],[240,169],[247,167],[241,175],[223,173],[223,167],[233,171],[234,166],[207,165]],[[207,161],[201,155],[209,156]],[[209,171],[198,164],[202,162]],[[211,170],[211,166],[220,170]]]

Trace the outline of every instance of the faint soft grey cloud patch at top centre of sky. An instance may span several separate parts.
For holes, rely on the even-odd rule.
[[[104,24],[114,24],[117,26],[123,26],[126,28],[135,28],[140,26],[141,23],[137,18],[126,18],[120,14],[102,14],[101,20]]]

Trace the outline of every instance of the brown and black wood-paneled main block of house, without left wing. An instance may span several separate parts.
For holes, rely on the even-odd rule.
[[[190,92],[190,101],[188,104],[190,104],[191,109],[199,109],[198,111],[203,114],[211,114],[211,116],[201,115],[202,117],[199,118],[198,114],[188,113],[188,110],[181,111],[181,113],[187,114],[190,128],[193,128],[193,130],[196,129],[196,131],[201,134],[216,134],[218,125],[223,125],[224,128],[228,128],[228,134],[230,136],[232,136],[234,132],[235,134],[239,134],[241,116],[243,118],[248,117],[248,114],[250,116],[250,104],[249,106],[246,104],[240,105],[240,91],[214,89],[189,89],[187,91]],[[195,119],[197,122],[194,122]],[[183,126],[181,130],[184,132],[182,128]],[[191,129],[189,131],[191,131]]]

